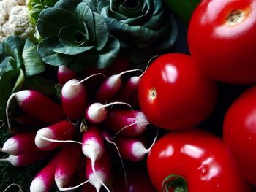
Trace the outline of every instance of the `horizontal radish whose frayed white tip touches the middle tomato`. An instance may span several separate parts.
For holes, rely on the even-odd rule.
[[[110,110],[105,120],[105,126],[111,131],[129,136],[142,134],[148,124],[140,110]]]

